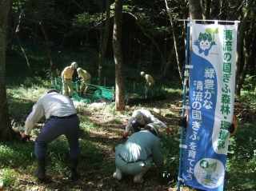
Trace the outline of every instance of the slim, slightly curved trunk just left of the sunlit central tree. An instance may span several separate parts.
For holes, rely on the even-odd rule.
[[[102,66],[106,54],[106,46],[109,39],[110,34],[110,0],[106,0],[106,24],[105,24],[105,30],[102,38],[102,44],[100,46],[100,52],[98,55],[98,85],[101,86],[102,82]]]

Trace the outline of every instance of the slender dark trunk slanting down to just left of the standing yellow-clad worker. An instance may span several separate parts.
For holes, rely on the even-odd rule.
[[[50,71],[51,71],[52,76],[56,77],[58,75],[57,74],[57,67],[55,66],[55,63],[54,63],[54,57],[51,54],[50,41],[49,41],[49,38],[48,38],[48,34],[46,32],[46,27],[43,24],[43,14],[42,14],[41,6],[38,4],[37,0],[33,0],[33,2],[34,2],[34,6],[36,6],[36,8],[38,10],[38,18],[40,19],[39,26],[40,26],[40,28],[42,30],[42,34],[43,34],[43,36],[46,40],[44,46],[46,46],[47,54],[48,54],[48,57],[50,59]]]

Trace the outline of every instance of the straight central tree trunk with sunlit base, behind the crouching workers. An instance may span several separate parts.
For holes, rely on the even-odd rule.
[[[125,100],[125,74],[122,58],[122,1],[115,0],[114,5],[114,30],[113,30],[113,50],[115,64],[115,109],[124,110]]]

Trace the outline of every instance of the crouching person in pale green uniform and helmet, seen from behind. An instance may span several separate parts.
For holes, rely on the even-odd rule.
[[[122,173],[128,173],[134,175],[135,184],[142,184],[143,174],[153,163],[158,169],[162,168],[164,157],[158,134],[158,126],[149,123],[145,126],[145,130],[132,134],[124,145],[118,145],[115,150],[114,179],[122,181]]]

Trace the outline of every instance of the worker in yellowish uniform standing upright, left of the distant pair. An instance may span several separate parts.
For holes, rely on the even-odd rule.
[[[77,62],[72,62],[70,66],[67,66],[62,71],[62,94],[73,97],[74,87],[72,82],[72,76],[74,74],[74,69],[78,68]],[[69,90],[69,91],[67,91]]]

